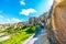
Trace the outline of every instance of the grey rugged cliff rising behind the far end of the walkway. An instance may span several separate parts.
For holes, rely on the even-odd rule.
[[[38,18],[32,16],[29,19],[29,24],[41,25],[42,28],[44,28],[45,23],[46,23],[47,15],[48,15],[48,12],[45,12],[44,14],[40,15]]]

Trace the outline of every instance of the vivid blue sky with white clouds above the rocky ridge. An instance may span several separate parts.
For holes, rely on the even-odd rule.
[[[28,21],[48,11],[53,0],[0,0],[0,24]]]

